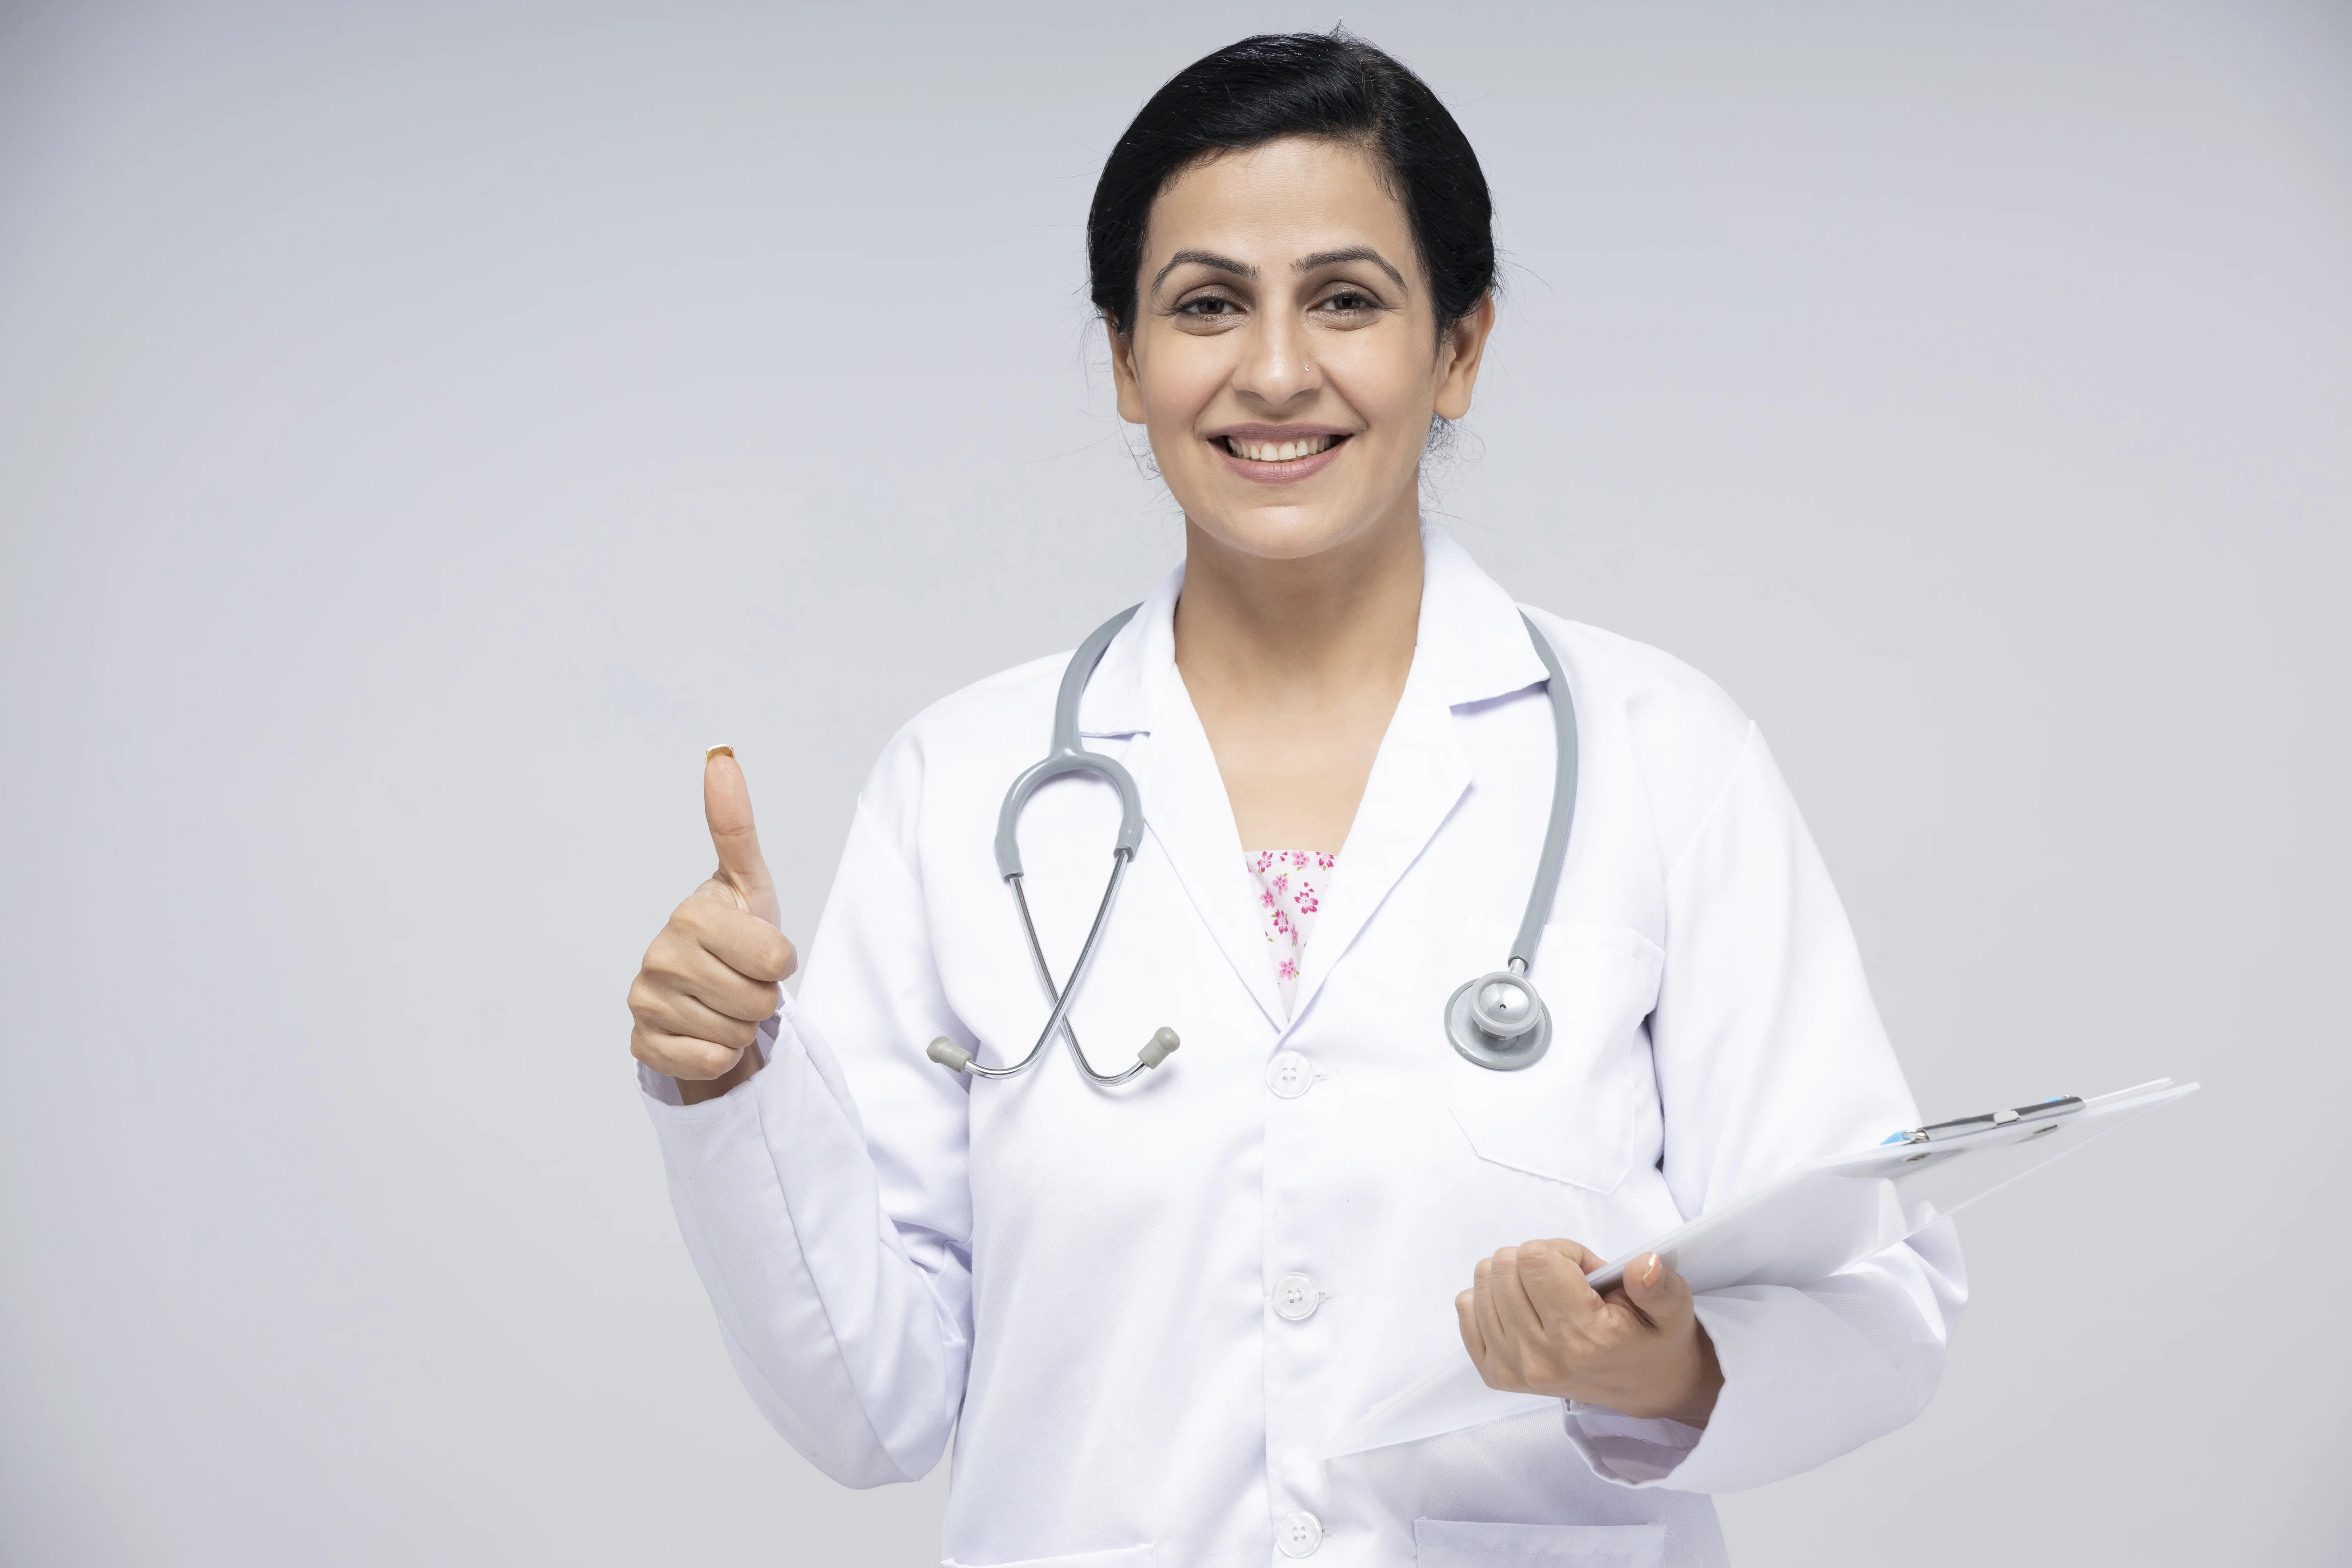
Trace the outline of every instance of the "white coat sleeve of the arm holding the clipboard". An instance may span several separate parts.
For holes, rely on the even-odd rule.
[[[1764,738],[1668,867],[1651,1051],[1663,1173],[1698,1215],[1917,1112],[1853,931]],[[1698,1298],[1724,1389],[1708,1425],[1571,1403],[1569,1439],[1628,1486],[1724,1493],[1799,1474],[1910,1422],[1966,1300],[1950,1220],[1811,1286]]]

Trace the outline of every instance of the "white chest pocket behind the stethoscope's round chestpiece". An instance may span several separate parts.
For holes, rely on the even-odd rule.
[[[1517,926],[1472,922],[1486,969]],[[1477,959],[1472,959],[1477,964]],[[1665,954],[1628,926],[1545,926],[1534,980],[1552,1011],[1552,1048],[1519,1072],[1454,1053],[1454,1119],[1479,1159],[1613,1192],[1658,1140],[1658,1079],[1642,1023],[1658,1006]],[[1468,978],[1468,971],[1463,971]]]

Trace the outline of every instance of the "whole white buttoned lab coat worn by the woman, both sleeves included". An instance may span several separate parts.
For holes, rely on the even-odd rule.
[[[1926,1403],[1964,1298],[1947,1227],[1818,1286],[1698,1298],[1708,1427],[1576,1403],[1345,1460],[1317,1450],[1446,1349],[1498,1246],[1616,1255],[1778,1171],[1917,1121],[1846,917],[1755,724],[1642,644],[1536,614],[1576,696],[1576,832],[1526,1072],[1475,1067],[1442,1006],[1510,950],[1552,785],[1517,607],[1425,531],[1404,698],[1284,1020],[1242,842],[1174,663],[1171,571],[1110,644],[1087,743],[1148,835],[1056,1051],[993,835],[1044,755],[1068,656],[908,724],[858,797],[767,1067],[703,1105],[642,1077],[687,1248],[746,1389],[849,1486],[957,1432],[953,1566],[1722,1563],[1708,1493],[1790,1476]],[[1117,799],[1042,788],[1028,896],[1068,966]],[[1254,844],[1251,849],[1284,849]],[[1322,846],[1312,846],[1322,849]],[[1296,1053],[1277,1093],[1277,1053]],[[1275,1309],[1301,1274],[1315,1309]],[[1291,1293],[1296,1312],[1296,1288]],[[1305,1528],[1301,1516],[1310,1514]]]

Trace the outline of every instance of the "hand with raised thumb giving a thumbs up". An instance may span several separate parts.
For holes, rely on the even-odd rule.
[[[800,954],[776,929],[776,884],[760,858],[750,788],[734,748],[715,745],[703,759],[703,816],[720,867],[670,910],[628,987],[637,1020],[628,1051],[677,1079],[687,1105],[722,1095],[760,1070],[750,1044],[760,1023],[774,1018],[783,978],[800,969]]]

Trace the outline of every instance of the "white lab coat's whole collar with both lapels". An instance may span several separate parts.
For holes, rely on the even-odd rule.
[[[1414,663],[1374,757],[1364,802],[1341,846],[1315,933],[1301,954],[1289,1020],[1282,1013],[1275,966],[1268,961],[1256,889],[1242,865],[1232,802],[1209,736],[1176,672],[1181,564],[1160,581],[1136,618],[1103,651],[1103,663],[1096,665],[1080,705],[1082,733],[1145,738],[1129,752],[1129,766],[1143,792],[1143,820],[1202,924],[1275,1030],[1305,1018],[1322,983],[1470,788],[1470,757],[1454,729],[1451,710],[1543,679],[1543,661],[1529,646],[1510,595],[1479,571],[1444,529],[1423,524],[1421,545],[1421,628],[1414,639]]]

